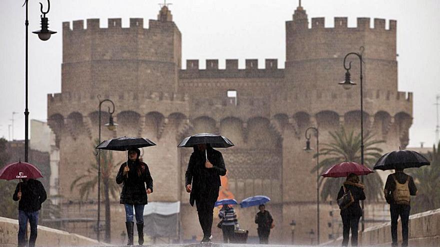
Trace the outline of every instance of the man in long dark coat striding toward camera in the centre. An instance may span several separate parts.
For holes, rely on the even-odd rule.
[[[209,243],[212,218],[220,176],[226,175],[223,156],[209,144],[199,144],[189,157],[185,172],[185,189],[189,195],[189,204],[197,208],[198,221],[203,231],[201,243]]]

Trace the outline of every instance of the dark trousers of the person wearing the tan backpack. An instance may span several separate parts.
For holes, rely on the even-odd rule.
[[[402,222],[402,247],[408,246],[408,221],[409,211],[411,206],[403,204],[389,205],[389,212],[391,213],[391,246],[397,246],[397,219],[400,216]]]

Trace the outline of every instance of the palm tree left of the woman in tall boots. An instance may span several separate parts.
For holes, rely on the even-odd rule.
[[[99,142],[95,141],[97,146]],[[101,196],[104,198],[105,205],[105,241],[110,242],[110,194],[113,198],[120,191],[120,186],[110,181],[114,179],[118,171],[117,163],[113,163],[113,155],[110,151],[100,151],[101,156]],[[96,163],[91,163],[84,174],[78,176],[70,184],[70,191],[79,188],[81,201],[87,200],[90,192],[94,192],[98,182],[98,157],[95,155]]]

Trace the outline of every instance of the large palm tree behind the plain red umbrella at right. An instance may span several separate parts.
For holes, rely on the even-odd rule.
[[[352,161],[360,164],[360,134],[355,135],[353,131],[347,133],[342,127],[337,131],[329,132],[331,136],[330,143],[324,143],[319,152],[320,157],[325,157],[319,162],[319,167],[314,167],[311,171],[316,172],[316,169],[320,171],[328,170],[332,165],[341,162]],[[363,137],[364,142],[364,164],[371,169],[371,166],[381,156],[382,149],[375,145],[383,143],[384,141],[375,140],[371,133],[366,133]],[[319,187],[321,190],[321,199],[331,199],[336,201],[337,193],[340,189],[340,185],[344,182],[345,178],[328,178],[321,179]],[[382,198],[383,182],[377,173],[369,174],[365,176],[363,180],[365,184],[365,196],[367,201],[376,202]]]

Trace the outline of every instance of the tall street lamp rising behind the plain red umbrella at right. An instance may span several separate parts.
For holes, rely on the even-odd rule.
[[[349,55],[355,55],[359,58],[359,62],[360,62],[360,164],[363,166],[363,90],[362,90],[362,52],[363,52],[364,48],[363,46],[360,47],[360,52],[350,52],[348,54],[345,55],[344,57],[344,61],[343,61],[343,66],[344,69],[346,70],[345,72],[345,80],[342,82],[339,82],[339,85],[342,85],[342,87],[345,90],[350,89],[352,86],[356,85],[356,83],[352,82],[350,80],[350,69],[351,69],[351,62],[348,63],[348,67],[345,65],[345,60],[347,59],[347,57]],[[360,177],[361,182],[363,183],[363,176]],[[364,215],[363,215],[363,201],[361,201],[361,208],[362,208],[362,219],[361,219],[361,229],[362,232],[365,229],[365,225],[364,225]]]

